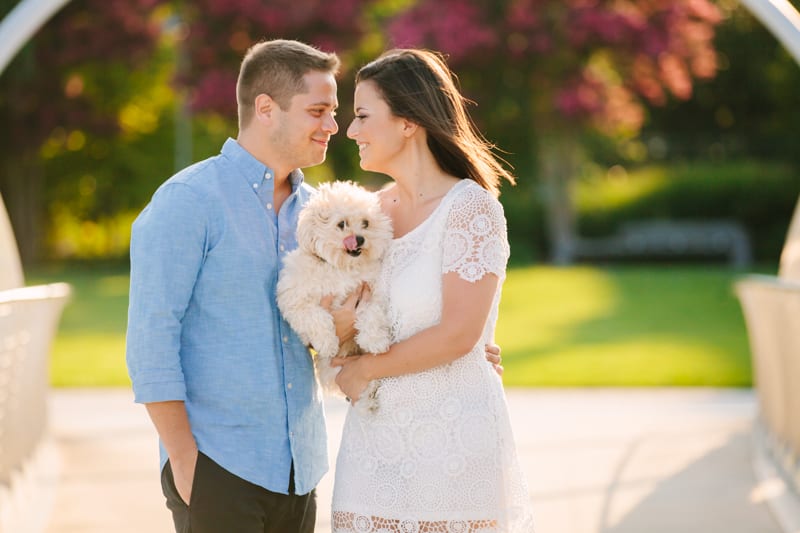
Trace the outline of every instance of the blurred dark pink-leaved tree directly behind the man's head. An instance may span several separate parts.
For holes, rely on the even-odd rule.
[[[297,39],[339,54],[340,109],[346,112],[353,92],[354,64],[365,53],[377,54],[383,44],[380,30],[374,25],[376,17],[385,18],[408,3],[407,0],[181,2],[179,12],[187,27],[182,46],[188,68],[179,76],[179,84],[187,90],[194,112],[221,117],[234,135],[236,78],[243,54],[263,39]],[[344,120],[340,120],[340,126],[346,127]],[[346,146],[342,137],[334,138],[326,165],[334,176],[340,177],[358,166],[356,151]],[[321,172],[326,172],[326,168],[310,170],[310,174]]]

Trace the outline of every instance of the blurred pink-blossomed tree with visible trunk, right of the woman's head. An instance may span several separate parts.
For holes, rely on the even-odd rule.
[[[708,0],[419,0],[387,20],[387,33],[394,46],[449,55],[466,91],[491,102],[482,115],[492,130],[522,135],[552,260],[568,263],[583,132],[630,138],[646,105],[688,99],[695,79],[717,71],[721,19]]]

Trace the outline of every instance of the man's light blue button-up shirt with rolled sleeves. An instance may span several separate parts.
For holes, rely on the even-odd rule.
[[[200,451],[233,474],[306,494],[328,469],[308,349],[275,285],[313,189],[279,213],[274,177],[233,139],[167,180],[133,224],[127,363],[135,400],[182,400]],[[167,460],[161,446],[161,466]]]

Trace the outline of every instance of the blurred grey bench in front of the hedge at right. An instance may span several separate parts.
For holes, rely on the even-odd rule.
[[[581,259],[723,257],[736,268],[752,262],[747,233],[730,220],[629,222],[611,237],[576,239],[575,253]]]

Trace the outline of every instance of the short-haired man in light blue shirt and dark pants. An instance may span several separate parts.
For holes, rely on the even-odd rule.
[[[128,368],[177,531],[314,530],[321,395],[275,284],[312,193],[298,169],[338,131],[338,68],[296,41],[253,46],[237,139],[165,182],[133,225]]]

